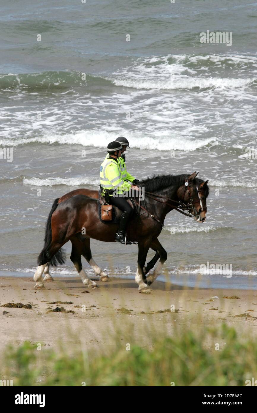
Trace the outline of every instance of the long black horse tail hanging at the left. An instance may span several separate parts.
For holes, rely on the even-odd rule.
[[[56,254],[54,254],[54,256],[52,256],[51,259],[49,259],[49,256],[48,256],[48,249],[52,242],[52,227],[51,227],[52,214],[57,209],[58,201],[59,201],[59,198],[56,198],[54,203],[52,204],[52,209],[49,213],[49,216],[48,216],[48,219],[45,225],[45,240],[44,240],[45,245],[38,256],[38,265],[43,265],[49,262],[50,265],[56,267],[57,264],[64,264],[66,260],[64,251],[61,248],[59,249],[59,251],[57,251]]]

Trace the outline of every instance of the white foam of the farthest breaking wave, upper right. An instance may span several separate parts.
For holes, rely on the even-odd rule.
[[[207,71],[201,71],[202,65],[208,63],[216,67],[217,76],[210,76]],[[241,57],[239,55],[168,55],[163,57],[141,58],[131,66],[118,70],[110,80],[117,86],[135,89],[187,89],[217,88],[235,89],[243,88],[257,80],[257,77],[240,76],[240,69],[247,64],[255,68],[255,57]],[[238,77],[222,77],[222,68],[228,65],[236,66],[239,70]],[[237,67],[238,66],[238,67]],[[200,69],[200,70],[199,70]],[[254,71],[256,72],[256,71]]]

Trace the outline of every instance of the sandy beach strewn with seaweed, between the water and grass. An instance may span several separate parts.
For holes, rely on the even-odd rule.
[[[134,281],[97,284],[97,290],[87,290],[79,278],[66,278],[46,282],[45,289],[38,291],[32,278],[1,277],[0,352],[7,344],[24,340],[53,349],[61,345],[71,352],[78,346],[97,350],[111,344],[112,330],[117,328],[125,343],[130,328],[138,344],[146,346],[149,325],[160,334],[165,328],[172,335],[177,326],[197,331],[203,325],[226,322],[238,332],[257,333],[256,291],[196,290],[156,281],[146,295],[139,294]],[[8,303],[32,308],[4,306]],[[51,311],[57,307],[62,311]]]

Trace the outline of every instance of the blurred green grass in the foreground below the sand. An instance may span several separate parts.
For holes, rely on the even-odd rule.
[[[183,328],[173,337],[153,332],[151,345],[131,344],[130,350],[115,334],[117,344],[97,353],[37,351],[30,342],[9,346],[0,377],[14,386],[245,386],[257,377],[257,339],[226,324],[197,332]]]

